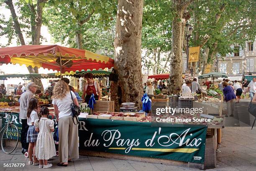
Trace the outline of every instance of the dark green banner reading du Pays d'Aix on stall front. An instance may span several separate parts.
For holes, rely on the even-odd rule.
[[[79,148],[129,156],[204,163],[207,127],[79,119]]]

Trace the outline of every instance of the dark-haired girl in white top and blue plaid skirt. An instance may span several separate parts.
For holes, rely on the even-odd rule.
[[[28,162],[28,165],[33,164],[33,166],[39,165],[39,161],[37,160],[35,155],[36,139],[37,139],[38,132],[36,132],[34,123],[35,123],[35,120],[38,119],[37,108],[38,108],[38,102],[36,98],[31,98],[28,103],[28,112],[27,112],[28,125],[29,125],[27,143],[29,143],[28,156],[30,159],[30,161]],[[32,158],[32,154],[34,156],[34,160]]]

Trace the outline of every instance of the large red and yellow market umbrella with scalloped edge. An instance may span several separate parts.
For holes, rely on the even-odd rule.
[[[114,60],[87,50],[67,48],[58,45],[25,45],[0,48],[0,63],[25,64],[60,71],[81,71],[82,69],[105,69],[114,65]]]

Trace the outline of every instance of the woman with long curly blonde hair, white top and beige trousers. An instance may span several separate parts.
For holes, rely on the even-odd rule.
[[[69,85],[59,81],[54,86],[52,104],[57,121],[59,121],[59,163],[67,166],[70,159],[79,158],[78,153],[78,125],[72,119],[71,103],[78,106],[77,97],[69,90]]]

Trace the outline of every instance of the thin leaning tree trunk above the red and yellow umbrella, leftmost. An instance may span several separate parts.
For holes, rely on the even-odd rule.
[[[13,1],[12,0],[5,0],[6,5],[8,5],[10,12],[12,14],[13,22],[14,22],[14,28],[15,28],[15,33],[18,35],[20,44],[25,45],[24,37],[22,35],[21,29],[20,29],[20,23],[18,22],[18,17],[15,13],[15,9],[13,6]]]

